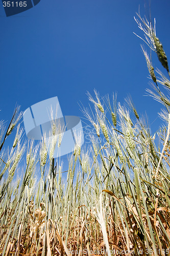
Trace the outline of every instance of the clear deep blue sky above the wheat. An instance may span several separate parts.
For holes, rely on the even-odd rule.
[[[14,107],[25,111],[58,96],[63,115],[83,117],[78,103],[86,92],[117,92],[121,103],[131,94],[139,114],[147,112],[153,133],[161,104],[145,97],[149,76],[142,41],[133,18],[144,0],[41,0],[34,8],[6,17],[0,2],[0,119],[10,120]],[[156,33],[170,61],[170,2],[152,0]],[[149,51],[150,53],[150,51]],[[154,67],[164,71],[156,54]],[[169,62],[170,65],[170,62]],[[83,119],[82,119],[83,120]]]

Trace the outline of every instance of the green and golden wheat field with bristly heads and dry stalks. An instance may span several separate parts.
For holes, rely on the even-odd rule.
[[[168,71],[155,28],[138,17],[139,27],[148,36],[147,44],[153,44]],[[157,133],[160,146],[130,97],[121,105],[116,103],[116,94],[112,100],[109,96],[101,99],[95,91],[95,97],[88,94],[93,110],[83,109],[93,127],[91,146],[82,148],[77,137],[64,182],[60,158],[53,158],[54,147],[60,147],[60,143],[56,145],[55,123],[51,141],[43,138],[39,146],[33,141],[22,142],[18,108],[8,129],[0,123],[2,256],[169,254],[170,101],[158,84],[169,89],[170,81],[160,71],[160,77],[155,75],[149,55],[142,49],[155,83],[156,92],[150,93],[164,104],[160,115],[168,122],[168,128],[162,126]],[[5,140],[15,126],[13,146],[6,150]],[[23,166],[22,158],[26,162]],[[17,178],[19,168],[24,175]]]

